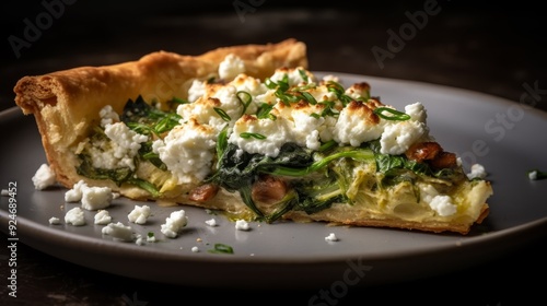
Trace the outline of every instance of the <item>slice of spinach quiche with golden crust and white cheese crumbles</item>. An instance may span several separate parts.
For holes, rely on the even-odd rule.
[[[25,76],[14,92],[67,188],[434,233],[467,234],[489,212],[491,184],[443,150],[421,103],[396,109],[365,80],[318,79],[292,38]]]

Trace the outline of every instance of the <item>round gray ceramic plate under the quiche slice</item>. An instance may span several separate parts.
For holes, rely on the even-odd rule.
[[[103,226],[93,224],[94,212],[85,213],[88,225],[65,224],[66,211],[79,205],[63,202],[66,189],[34,189],[31,178],[46,161],[39,134],[33,117],[11,108],[0,113],[0,187],[16,184],[13,238],[77,264],[136,279],[199,286],[298,289],[433,276],[484,262],[545,235],[547,180],[531,181],[526,173],[547,170],[547,114],[526,104],[453,87],[316,74],[339,75],[345,84],[369,82],[373,95],[396,107],[424,104],[431,133],[444,149],[461,154],[466,167],[476,162],[489,173],[494,195],[486,222],[466,236],[291,222],[252,223],[251,231],[243,232],[200,209],[116,199],[108,210],[114,221],[126,225],[136,204],[150,205],[153,215],[149,222],[131,226],[138,234],[154,232],[160,238],[144,245],[117,242],[102,235]],[[0,198],[0,229],[8,234],[9,198]],[[187,227],[177,238],[164,238],[161,224],[179,209],[188,215]],[[49,225],[51,216],[60,217],[61,224]],[[219,226],[205,223],[211,217]],[[330,233],[339,240],[326,242]],[[208,251],[219,243],[233,247],[234,254]],[[194,246],[198,252],[191,250]]]

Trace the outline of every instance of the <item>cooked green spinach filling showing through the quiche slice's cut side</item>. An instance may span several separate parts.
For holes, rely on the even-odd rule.
[[[172,103],[185,102],[173,99]],[[176,107],[172,105],[172,108]],[[150,162],[158,169],[166,172],[166,165],[152,150],[152,142],[177,126],[181,116],[175,111],[158,109],[139,96],[135,102],[127,102],[120,120],[131,130],[149,136],[149,141],[141,143],[133,158],[135,168],[138,168],[139,163]],[[338,146],[330,141],[324,143],[318,151],[286,143],[278,156],[269,157],[243,152],[235,144],[228,142],[228,133],[226,127],[218,137],[216,164],[205,183],[218,185],[231,192],[238,191],[245,204],[257,215],[257,220],[268,223],[292,210],[312,214],[330,208],[333,203],[352,204],[347,191],[356,181],[353,168],[363,164],[373,164],[376,173],[381,174],[381,179],[374,188],[389,188],[404,181],[414,185],[420,177],[455,181],[463,176],[458,168],[433,169],[427,163],[410,161],[405,155],[382,154],[380,140],[370,141],[360,148]],[[97,128],[93,138],[106,139],[106,136]],[[118,186],[135,185],[153,197],[162,196],[159,191],[161,186],[136,177],[136,170],[95,168],[90,155],[82,153],[79,157],[82,161],[77,167],[80,175],[92,179],[109,179]],[[253,185],[261,175],[282,177],[289,183],[289,191],[276,203],[274,212],[261,211],[252,197]]]

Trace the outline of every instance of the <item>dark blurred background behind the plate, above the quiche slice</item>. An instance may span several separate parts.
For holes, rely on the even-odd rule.
[[[62,13],[49,14],[51,22],[42,19],[44,30],[19,58],[9,37],[24,39],[24,20],[38,26],[36,17],[48,11],[42,1],[2,1],[2,108],[13,106],[13,85],[27,74],[135,60],[160,49],[197,55],[288,37],[307,44],[316,71],[423,81],[511,101],[520,99],[524,83],[547,89],[545,13],[533,1],[438,1],[439,13],[429,15],[383,68],[371,49],[387,50],[387,31],[398,33],[409,23],[407,13],[432,1],[45,1],[62,3]],[[536,106],[547,109],[547,102]]]

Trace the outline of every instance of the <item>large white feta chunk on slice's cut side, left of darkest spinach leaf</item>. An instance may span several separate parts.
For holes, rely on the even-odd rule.
[[[189,120],[172,129],[163,141],[154,141],[152,149],[179,183],[185,184],[201,181],[210,173],[216,141],[217,133],[211,127]]]

